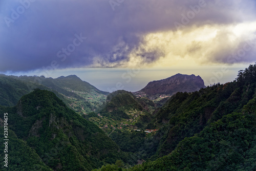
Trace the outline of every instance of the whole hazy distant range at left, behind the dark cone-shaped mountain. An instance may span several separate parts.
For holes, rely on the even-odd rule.
[[[98,109],[106,99],[103,92],[76,75],[58,78],[44,76],[6,76],[0,75],[0,105],[16,105],[19,98],[34,89],[50,90],[79,114],[88,114]]]

